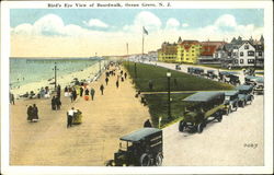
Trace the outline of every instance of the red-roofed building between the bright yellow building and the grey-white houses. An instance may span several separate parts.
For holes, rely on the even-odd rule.
[[[198,63],[220,63],[219,55],[216,55],[218,48],[224,46],[225,42],[202,42],[202,51]]]

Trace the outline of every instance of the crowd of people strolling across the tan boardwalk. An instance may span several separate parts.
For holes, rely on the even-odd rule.
[[[115,80],[112,82],[115,82],[116,89],[119,88],[121,83],[123,83],[127,79],[127,73],[124,72],[118,63],[114,63],[111,66],[107,66],[105,69],[105,84],[101,83],[99,86],[99,91],[101,92],[101,95],[104,95],[105,86],[107,86],[111,82],[111,80]],[[48,86],[45,89],[42,88],[38,92],[38,97],[48,97],[47,95],[50,95]],[[78,96],[79,95],[79,96]],[[69,97],[71,103],[76,102],[78,97],[83,97],[85,101],[94,101],[95,96],[95,90],[93,86],[89,86],[88,83],[80,83],[76,85],[67,85],[64,89],[64,96]],[[10,103],[14,104],[14,96],[10,93]],[[61,107],[61,86],[58,85],[56,88],[56,91],[53,93],[52,97],[52,110],[59,110]],[[27,106],[27,120],[28,121],[37,121],[38,120],[38,108],[36,104]],[[80,124],[81,122],[81,112],[79,109],[75,109],[72,107],[67,112],[67,128],[72,126],[73,119]],[[147,124],[146,127],[149,125]]]

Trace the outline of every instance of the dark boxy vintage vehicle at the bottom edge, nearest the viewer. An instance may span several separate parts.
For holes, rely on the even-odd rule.
[[[162,164],[162,130],[142,128],[122,137],[119,150],[106,166],[160,166]]]

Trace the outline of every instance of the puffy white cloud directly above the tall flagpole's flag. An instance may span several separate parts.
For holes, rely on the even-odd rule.
[[[148,32],[151,33],[160,30],[161,25],[162,22],[157,15],[148,11],[141,11],[135,16],[134,23],[125,25],[123,30],[125,32],[139,33],[142,26],[145,26]]]

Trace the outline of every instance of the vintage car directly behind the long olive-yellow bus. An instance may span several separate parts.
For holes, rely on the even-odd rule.
[[[239,106],[239,92],[238,91],[226,91],[225,92],[225,112],[226,114],[230,114],[231,112],[236,112]]]

